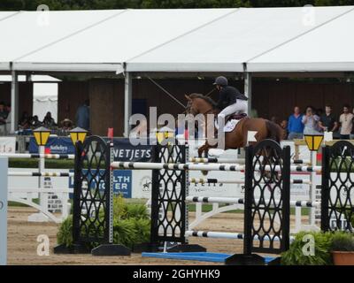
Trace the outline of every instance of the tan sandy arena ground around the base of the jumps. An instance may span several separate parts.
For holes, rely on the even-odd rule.
[[[55,255],[52,252],[56,246],[58,225],[54,223],[30,223],[27,217],[35,210],[30,208],[10,207],[8,217],[8,264],[208,264],[203,262],[166,260],[132,256],[91,256],[91,255]],[[191,215],[192,216],[192,215]],[[219,232],[242,232],[242,214],[222,213],[204,221],[197,230]],[[46,234],[50,237],[50,256],[37,256],[37,236]],[[190,238],[190,243],[200,244],[211,252],[241,253],[242,241]]]

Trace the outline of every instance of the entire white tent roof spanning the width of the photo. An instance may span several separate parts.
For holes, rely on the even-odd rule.
[[[353,71],[353,24],[353,6],[0,12],[0,71]]]

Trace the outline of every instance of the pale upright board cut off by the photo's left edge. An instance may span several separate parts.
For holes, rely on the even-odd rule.
[[[0,157],[0,265],[7,264],[7,169],[8,158]]]

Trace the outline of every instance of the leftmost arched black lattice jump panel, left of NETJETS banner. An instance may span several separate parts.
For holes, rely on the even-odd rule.
[[[75,245],[112,243],[111,147],[98,136],[76,145],[73,185]]]

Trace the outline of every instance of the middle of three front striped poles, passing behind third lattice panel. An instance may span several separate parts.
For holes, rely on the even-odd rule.
[[[229,203],[229,204],[244,204],[243,198],[236,197],[214,197],[214,196],[187,196],[186,201],[189,203]],[[256,204],[275,204],[278,205],[280,200],[255,200]],[[320,207],[320,202],[310,202],[310,201],[290,201],[291,207]]]

